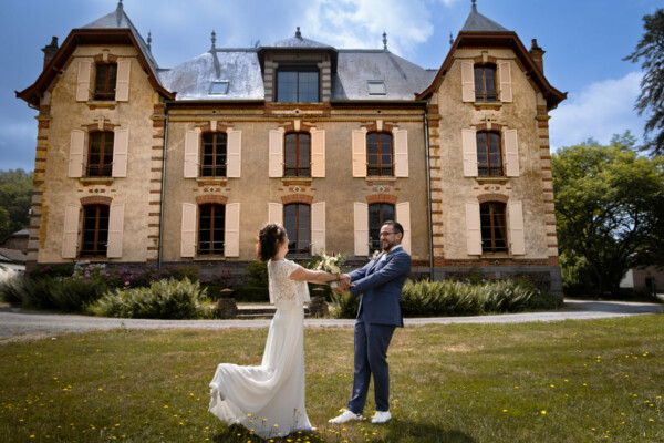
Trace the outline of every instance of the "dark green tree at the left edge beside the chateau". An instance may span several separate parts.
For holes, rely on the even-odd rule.
[[[0,238],[30,225],[32,172],[0,171]]]

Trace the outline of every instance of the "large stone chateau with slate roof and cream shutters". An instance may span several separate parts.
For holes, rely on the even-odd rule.
[[[383,220],[413,272],[530,275],[561,293],[549,111],[566,94],[477,11],[436,70],[294,37],[160,68],[123,9],[44,51],[28,266],[243,269],[282,223],[290,254],[362,265]],[[447,44],[447,43],[445,43]]]

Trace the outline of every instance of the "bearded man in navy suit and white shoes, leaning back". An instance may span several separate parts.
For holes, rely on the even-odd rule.
[[[369,382],[373,374],[376,413],[372,423],[385,423],[390,414],[387,347],[396,327],[403,328],[401,291],[411,274],[411,256],[401,246],[404,228],[396,222],[381,227],[383,253],[363,268],[341,276],[338,291],[362,295],[355,321],[355,373],[353,393],[343,413],[330,423],[362,420]]]

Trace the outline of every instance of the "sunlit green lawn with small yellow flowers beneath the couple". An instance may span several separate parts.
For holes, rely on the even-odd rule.
[[[385,425],[329,425],[350,328],[307,329],[315,434],[278,442],[663,442],[664,315],[398,329]],[[207,412],[219,362],[259,364],[267,329],[114,330],[0,344],[6,442],[259,442]],[[373,412],[370,393],[365,413]]]

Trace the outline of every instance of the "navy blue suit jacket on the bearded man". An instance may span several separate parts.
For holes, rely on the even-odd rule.
[[[381,257],[350,272],[354,285],[350,288],[351,293],[354,297],[362,295],[357,317],[363,312],[370,323],[403,328],[401,292],[411,274],[411,256],[402,247],[387,254],[382,261]]]

